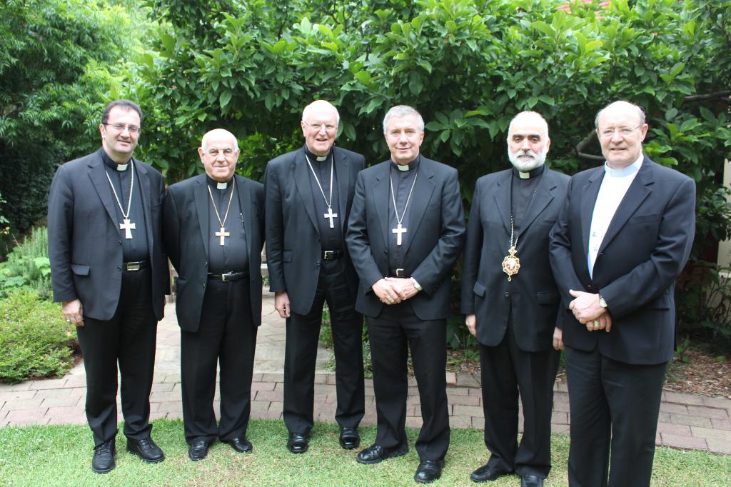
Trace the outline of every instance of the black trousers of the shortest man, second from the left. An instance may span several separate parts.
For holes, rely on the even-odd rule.
[[[181,331],[183,426],[190,445],[246,437],[251,413],[251,374],[257,327],[251,320],[249,280],[208,280],[200,327]],[[221,418],[216,425],[213,396],[221,366]]]

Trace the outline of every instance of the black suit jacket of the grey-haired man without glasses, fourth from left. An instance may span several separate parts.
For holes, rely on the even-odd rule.
[[[371,286],[389,275],[390,165],[388,160],[358,175],[346,234],[360,276],[355,309],[369,317],[378,316],[384,306]],[[451,271],[465,232],[459,181],[454,167],[424,156],[417,171],[404,272],[423,290],[409,301],[421,320],[443,320],[450,314]]]

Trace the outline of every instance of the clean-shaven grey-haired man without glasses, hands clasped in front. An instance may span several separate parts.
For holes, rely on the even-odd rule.
[[[407,347],[421,401],[414,480],[442,474],[450,442],[446,326],[450,277],[462,249],[464,214],[457,170],[421,156],[424,121],[412,107],[383,120],[389,160],[358,175],[346,241],[360,277],[356,309],[371,340],[378,432],[357,455],[376,464],[409,451]]]

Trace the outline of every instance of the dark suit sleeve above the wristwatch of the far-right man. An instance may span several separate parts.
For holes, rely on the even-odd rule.
[[[683,271],[695,235],[695,183],[684,178],[670,197],[650,258],[602,287],[612,317],[629,314],[657,298]]]

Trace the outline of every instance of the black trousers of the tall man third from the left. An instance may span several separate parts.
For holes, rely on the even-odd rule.
[[[287,318],[284,351],[284,424],[308,434],[314,424],[314,378],[322,308],[327,301],[335,348],[337,409],[341,427],[357,428],[366,413],[363,384],[363,315],[355,311],[342,259],[323,260],[317,292],[308,314]]]

